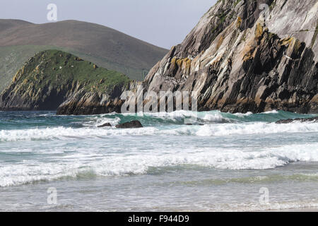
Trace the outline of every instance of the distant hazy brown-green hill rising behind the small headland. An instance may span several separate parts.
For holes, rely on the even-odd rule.
[[[167,53],[166,49],[93,23],[66,20],[37,25],[0,20],[0,91],[25,61],[47,49],[70,52],[135,80],[143,80]]]

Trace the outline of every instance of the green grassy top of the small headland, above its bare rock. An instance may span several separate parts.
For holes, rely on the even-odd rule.
[[[81,84],[87,92],[110,93],[116,85],[128,85],[129,78],[117,71],[100,68],[73,54],[47,50],[31,58],[22,71],[13,77],[13,83],[26,93],[46,88],[59,89],[71,83]]]

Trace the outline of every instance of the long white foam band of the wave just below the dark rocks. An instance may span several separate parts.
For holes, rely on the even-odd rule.
[[[98,124],[111,122],[117,124],[119,119],[101,120]],[[141,129],[96,129],[81,128],[73,129],[66,127],[55,127],[46,129],[23,129],[23,130],[1,130],[0,141],[33,141],[92,138],[107,136],[230,136],[230,135],[252,135],[252,134],[276,134],[276,133],[312,133],[318,132],[318,123],[274,124],[274,123],[245,123],[245,124],[210,124],[204,126],[166,126],[166,127],[144,127]]]

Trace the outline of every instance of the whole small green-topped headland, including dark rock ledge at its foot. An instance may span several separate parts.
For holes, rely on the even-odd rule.
[[[55,110],[60,114],[119,111],[129,78],[66,52],[49,50],[29,59],[0,95],[2,110]],[[67,108],[64,106],[67,105]]]

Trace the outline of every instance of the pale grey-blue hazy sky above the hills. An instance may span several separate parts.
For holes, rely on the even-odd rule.
[[[0,18],[48,23],[48,4],[57,19],[82,20],[114,28],[170,49],[182,42],[216,0],[0,0]]]

